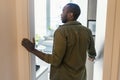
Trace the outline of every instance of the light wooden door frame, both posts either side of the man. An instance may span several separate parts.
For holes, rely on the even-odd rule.
[[[32,1],[32,0],[31,0]],[[21,46],[24,37],[30,37],[29,0],[16,0],[17,42],[18,42],[18,76],[19,80],[33,80],[30,54]],[[106,37],[104,48],[103,80],[118,80],[120,75],[120,1],[108,0],[106,18]],[[22,33],[21,33],[22,32]],[[33,32],[34,33],[34,32]],[[33,35],[33,34],[32,34]],[[34,37],[34,36],[33,36]],[[24,66],[23,66],[24,65]]]

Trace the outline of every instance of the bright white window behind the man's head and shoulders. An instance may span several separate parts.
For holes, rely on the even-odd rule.
[[[61,23],[61,13],[65,4],[69,2],[80,5],[82,13],[79,21],[87,26],[87,6],[82,3],[87,3],[82,0],[34,0],[35,2],[35,34],[37,41],[48,36],[52,36],[56,28]]]

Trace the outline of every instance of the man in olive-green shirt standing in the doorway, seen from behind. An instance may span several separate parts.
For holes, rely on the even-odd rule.
[[[86,80],[86,56],[94,61],[96,51],[91,31],[79,23],[77,4],[68,3],[61,14],[63,25],[54,33],[52,54],[34,48],[34,43],[23,39],[22,45],[43,61],[51,64],[50,80]]]

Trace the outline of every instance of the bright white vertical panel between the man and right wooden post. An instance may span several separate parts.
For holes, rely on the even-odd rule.
[[[97,57],[94,64],[94,80],[102,80],[103,49],[106,29],[106,10],[107,0],[97,0],[96,39],[95,39]]]

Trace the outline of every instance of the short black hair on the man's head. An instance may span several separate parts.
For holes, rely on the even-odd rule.
[[[73,13],[74,20],[77,20],[77,18],[79,17],[81,13],[80,7],[75,3],[68,3],[67,5],[69,5],[68,7],[69,12]]]

